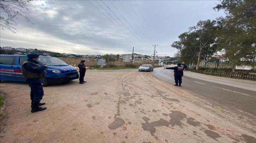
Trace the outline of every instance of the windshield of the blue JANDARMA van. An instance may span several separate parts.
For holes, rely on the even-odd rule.
[[[40,63],[47,66],[67,66],[68,65],[64,61],[51,56],[40,56]]]

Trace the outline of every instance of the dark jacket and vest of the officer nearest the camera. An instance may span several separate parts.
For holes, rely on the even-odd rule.
[[[37,61],[28,59],[22,65],[22,75],[28,83],[43,83],[42,77],[45,75],[45,67],[40,66]]]

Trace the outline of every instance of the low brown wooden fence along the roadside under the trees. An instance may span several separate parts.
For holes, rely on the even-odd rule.
[[[243,80],[256,80],[256,74],[251,74],[248,72],[231,72],[231,71],[214,71],[214,70],[195,70],[192,68],[187,68],[190,72],[201,73],[205,75],[213,75],[218,77],[229,77],[237,78]]]

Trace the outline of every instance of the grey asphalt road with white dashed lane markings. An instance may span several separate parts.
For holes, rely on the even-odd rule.
[[[151,72],[165,82],[175,84],[173,70],[155,68]],[[246,112],[247,117],[256,116],[256,82],[225,77],[215,77],[184,71],[182,90],[194,92],[213,105],[221,104],[230,109]]]

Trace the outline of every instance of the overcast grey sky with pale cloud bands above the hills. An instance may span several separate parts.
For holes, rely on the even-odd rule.
[[[29,4],[17,33],[0,30],[0,46],[72,54],[154,54],[173,57],[178,36],[199,20],[224,16],[216,0],[47,0]]]

